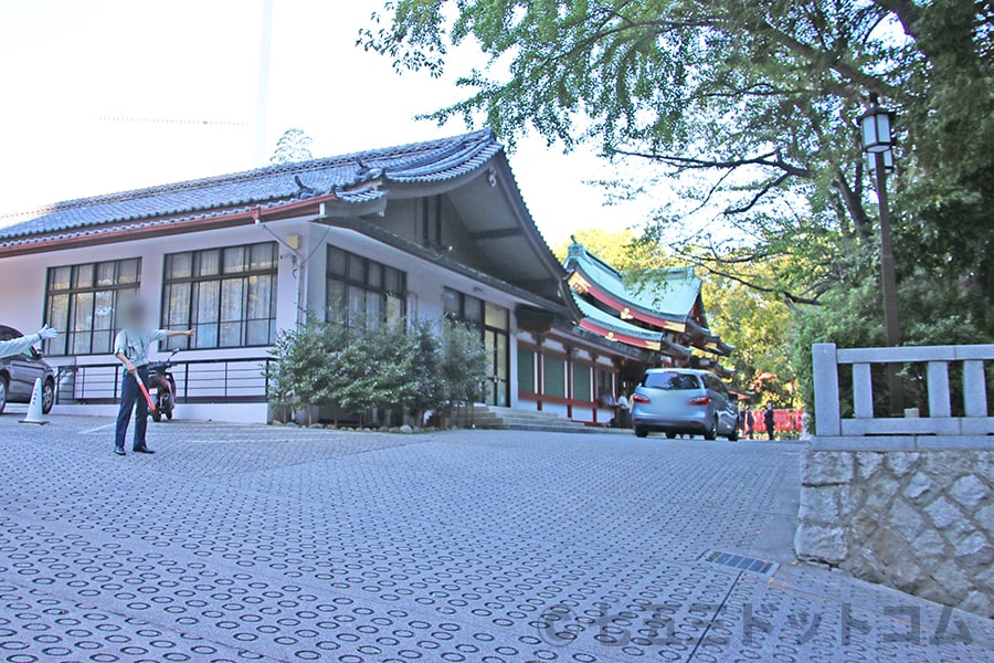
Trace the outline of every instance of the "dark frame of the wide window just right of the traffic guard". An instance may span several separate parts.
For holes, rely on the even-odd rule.
[[[252,249],[255,246],[269,246],[272,251],[269,259],[269,266],[252,269]],[[225,254],[230,251],[242,250],[244,253],[244,257],[242,264],[244,269],[237,271],[225,271]],[[211,252],[218,252],[218,271],[213,274],[197,274],[198,266],[202,257]],[[189,255],[190,256],[190,275],[189,276],[172,276],[170,274],[170,265],[177,260],[178,256]],[[268,276],[269,277],[269,314],[267,317],[257,317],[250,318],[248,315],[248,297],[251,296],[251,290],[248,287],[248,282],[252,277],[258,276]],[[242,285],[242,295],[240,303],[240,317],[237,319],[224,319],[224,297],[222,296],[224,282],[225,281],[241,281]],[[211,323],[200,323],[193,320],[195,302],[194,302],[194,286],[203,283],[218,283],[218,305],[216,305],[216,318]],[[187,301],[187,315],[183,322],[176,323],[170,322],[171,309],[170,309],[170,298],[168,296],[170,286],[175,285],[190,285],[189,298]],[[180,348],[180,349],[193,349],[193,350],[213,350],[213,349],[226,349],[226,348],[261,348],[261,347],[269,347],[275,343],[276,339],[276,298],[277,293],[279,291],[279,246],[276,242],[252,242],[250,244],[232,244],[229,246],[216,246],[210,249],[194,249],[191,251],[177,251],[175,253],[167,253],[162,257],[162,301],[160,307],[160,323],[163,329],[194,329],[195,327],[202,327],[212,325],[216,328],[214,338],[215,341],[211,345],[200,345],[200,339],[194,337],[194,341],[197,341],[195,347],[191,347],[191,341],[189,338],[184,337],[173,337],[167,341],[168,348]],[[266,323],[268,325],[267,336],[265,343],[248,343],[250,332],[248,325],[250,323]],[[239,325],[239,344],[236,345],[222,345],[221,338],[221,326],[222,325]]]

